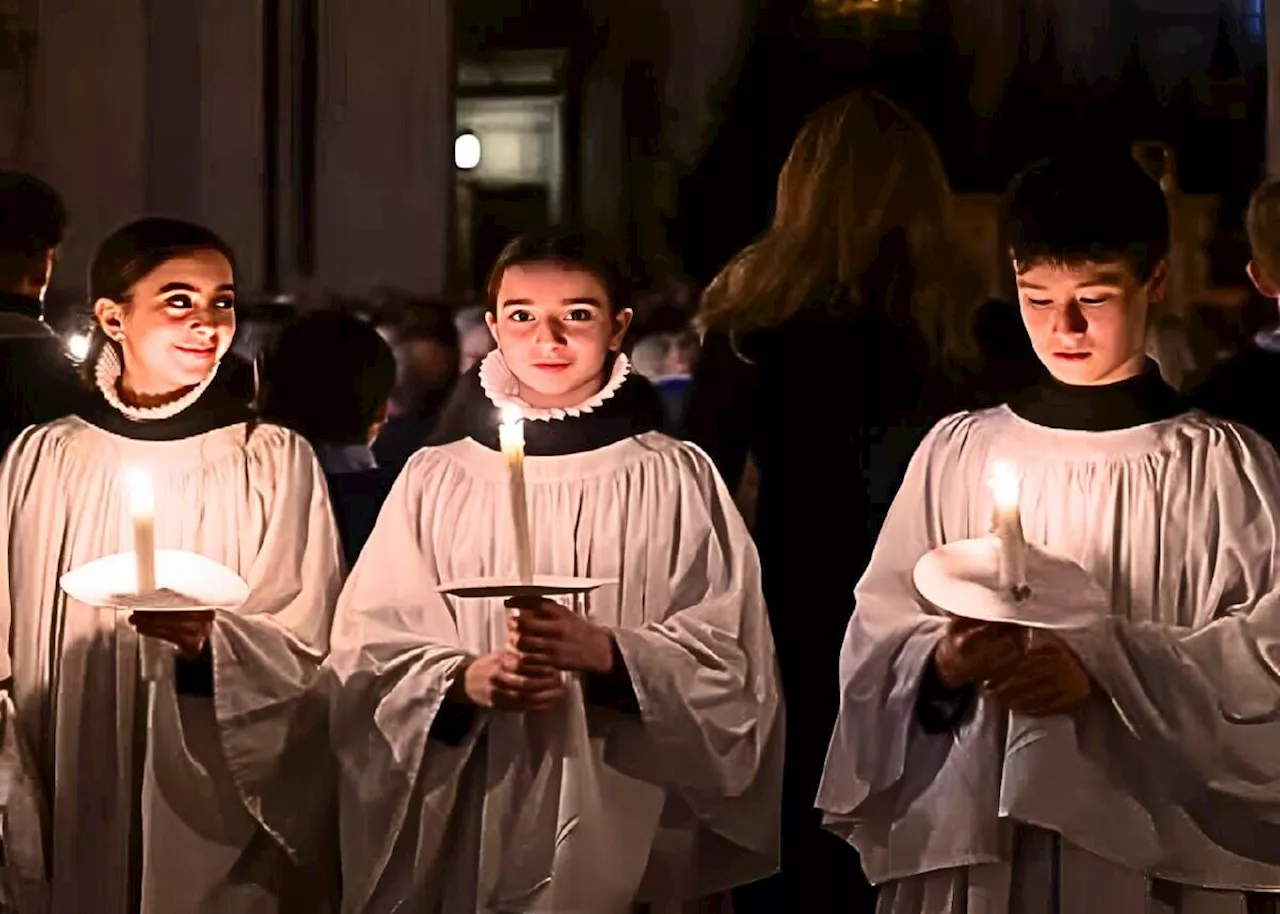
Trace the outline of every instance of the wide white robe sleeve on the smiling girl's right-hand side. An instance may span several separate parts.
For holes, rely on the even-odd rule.
[[[324,476],[297,435],[252,451],[261,540],[242,543],[248,600],[219,613],[210,637],[214,712],[246,808],[298,862],[317,845],[328,805],[326,704],[316,675],[328,650],[342,558]]]

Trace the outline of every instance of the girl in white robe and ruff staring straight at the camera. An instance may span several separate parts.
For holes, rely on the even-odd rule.
[[[344,911],[680,910],[777,865],[755,548],[707,457],[655,431],[620,292],[590,238],[508,246],[454,440],[410,460],[343,590]],[[516,573],[503,406],[525,416],[534,571],[616,581],[584,611],[439,593]]]

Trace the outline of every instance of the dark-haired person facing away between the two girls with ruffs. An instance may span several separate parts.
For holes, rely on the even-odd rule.
[[[349,568],[396,481],[371,447],[387,421],[396,357],[371,325],[320,311],[283,329],[265,367],[264,416],[316,452]]]

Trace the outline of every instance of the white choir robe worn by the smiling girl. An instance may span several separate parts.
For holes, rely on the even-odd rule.
[[[250,584],[212,626],[212,699],[175,694],[173,663],[148,689],[128,613],[59,589],[132,552],[125,467],[152,480],[157,548]],[[324,869],[289,863],[319,867],[333,828],[310,690],[340,559],[307,444],[273,425],[146,442],[59,420],[9,451],[0,521],[0,821],[19,914],[326,910]]]

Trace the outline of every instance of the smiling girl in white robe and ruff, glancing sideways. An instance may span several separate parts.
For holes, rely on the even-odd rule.
[[[220,365],[234,282],[198,225],[110,236],[91,271],[93,387],[0,466],[3,890],[20,914],[329,910],[302,854],[332,828],[308,689],[339,548],[310,448],[256,422]],[[129,616],[59,589],[133,550],[127,471],[150,477],[156,547],[241,575],[243,605]]]

